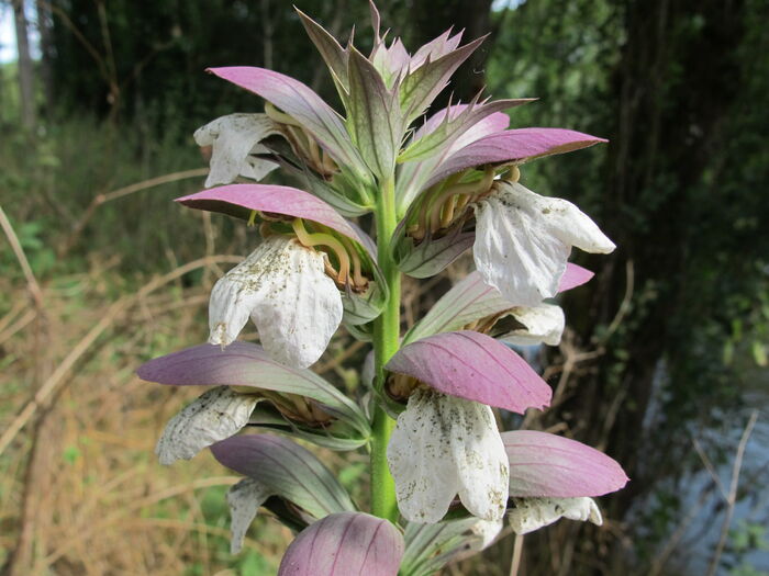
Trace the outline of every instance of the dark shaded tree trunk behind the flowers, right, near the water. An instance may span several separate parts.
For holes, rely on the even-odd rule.
[[[592,319],[580,334],[586,348],[600,339],[595,327],[609,326],[622,305],[628,261],[635,291],[632,312],[606,342],[606,353],[582,366],[575,376],[577,392],[556,415],[580,439],[618,460],[632,478],[602,499],[614,520],[646,497],[657,479],[680,468],[671,456],[673,447],[680,448],[676,434],[668,430],[660,437],[645,422],[656,416],[649,413],[655,409],[650,400],[664,361],[681,349],[675,318],[695,298],[684,273],[692,229],[699,225],[692,208],[707,193],[704,173],[717,159],[717,143],[739,90],[742,4],[631,0],[618,5],[627,41],[613,75],[615,118],[608,134],[612,144],[601,210],[611,215],[604,217],[604,229],[620,249],[603,264],[592,302],[584,304],[598,310],[589,314]],[[660,438],[670,443],[660,445]],[[565,534],[566,546],[597,560],[588,546],[600,541],[599,534],[590,531],[583,538],[580,532]],[[622,545],[617,540],[615,546],[604,546],[592,572],[628,568]],[[569,572],[575,566],[565,569],[576,574]]]

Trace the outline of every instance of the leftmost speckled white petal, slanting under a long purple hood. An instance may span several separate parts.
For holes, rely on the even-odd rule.
[[[188,404],[166,425],[155,447],[160,464],[190,460],[214,442],[230,438],[248,423],[256,396],[218,386]]]

